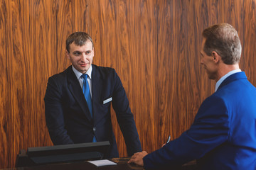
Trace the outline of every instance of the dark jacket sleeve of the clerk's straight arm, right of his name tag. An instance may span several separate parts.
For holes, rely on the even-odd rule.
[[[122,86],[122,82],[116,72],[114,72],[112,106],[117,115],[117,121],[124,136],[128,155],[132,156],[132,154],[136,152],[141,152],[142,146],[134,122],[134,116],[129,108],[129,101],[127,95],[125,94],[124,87]]]

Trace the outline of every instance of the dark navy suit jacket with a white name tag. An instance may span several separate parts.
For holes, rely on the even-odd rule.
[[[112,102],[103,104],[107,98]],[[48,79],[45,108],[46,124],[54,145],[110,141],[107,157],[119,157],[112,131],[110,106],[117,115],[129,155],[142,150],[129,101],[122,82],[112,68],[92,65],[92,114],[72,67]]]

